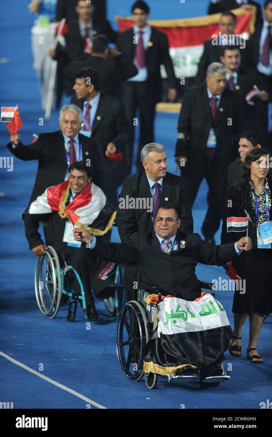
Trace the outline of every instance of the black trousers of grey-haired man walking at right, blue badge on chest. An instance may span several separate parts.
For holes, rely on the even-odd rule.
[[[205,158],[200,171],[196,172],[192,165],[185,166],[182,169],[182,177],[187,180],[192,206],[202,180],[206,179],[209,186],[207,194],[208,210],[201,230],[205,237],[213,237],[219,229],[220,219],[223,215],[227,192],[227,165],[226,168],[218,169],[215,158],[211,161]]]

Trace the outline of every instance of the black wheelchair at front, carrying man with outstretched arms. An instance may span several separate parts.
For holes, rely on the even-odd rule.
[[[152,284],[140,281],[137,269],[138,296],[137,301],[130,301],[119,312],[116,326],[116,352],[122,372],[132,381],[140,381],[145,375],[148,388],[156,387],[158,375],[152,372],[145,373],[143,370],[143,350],[154,328],[154,317],[157,317],[157,305],[161,302],[162,290]],[[199,281],[201,288],[208,289],[215,296],[214,284]],[[158,302],[147,304],[146,297],[150,294],[158,295]],[[157,323],[156,323],[157,326]],[[183,381],[199,381],[200,388],[218,386],[220,382],[226,382],[230,378],[230,372],[224,373],[223,363],[220,363],[222,375],[210,376],[201,379],[201,368],[193,371],[192,375],[160,375],[168,379],[182,378]]]

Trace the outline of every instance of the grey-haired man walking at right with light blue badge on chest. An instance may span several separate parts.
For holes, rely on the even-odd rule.
[[[235,159],[242,128],[241,97],[226,89],[226,69],[213,62],[206,83],[186,90],[178,119],[176,162],[187,179],[192,205],[205,177],[208,211],[202,232],[209,243],[219,228],[227,191],[227,166]]]

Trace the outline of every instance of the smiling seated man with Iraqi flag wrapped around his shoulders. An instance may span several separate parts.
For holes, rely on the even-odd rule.
[[[96,236],[105,235],[112,228],[116,211],[106,205],[105,194],[91,181],[90,167],[84,161],[71,164],[68,180],[47,188],[30,204],[23,214],[23,220],[29,249],[37,257],[44,255],[47,249],[38,232],[39,222],[49,222],[50,244],[59,255],[60,262],[65,260],[79,274],[84,287],[87,319],[97,320],[99,316],[94,305],[91,284],[94,294],[112,284],[108,274],[112,273],[114,264],[109,266],[95,254],[90,257],[85,247],[74,241],[73,225],[67,212],[77,214],[78,225]],[[98,278],[101,272],[103,280]],[[80,295],[80,284],[76,277],[73,278],[73,287]],[[81,300],[80,304],[82,305]]]

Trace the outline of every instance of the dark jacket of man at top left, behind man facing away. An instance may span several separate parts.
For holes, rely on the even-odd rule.
[[[58,44],[56,47],[56,55],[54,59],[59,59],[63,54],[66,62],[71,62],[82,55],[85,50],[85,41],[81,36],[78,20],[68,23],[69,32],[64,35],[66,41],[66,49]],[[113,31],[107,20],[93,21],[93,36],[106,35],[110,42],[115,42],[117,32]]]

